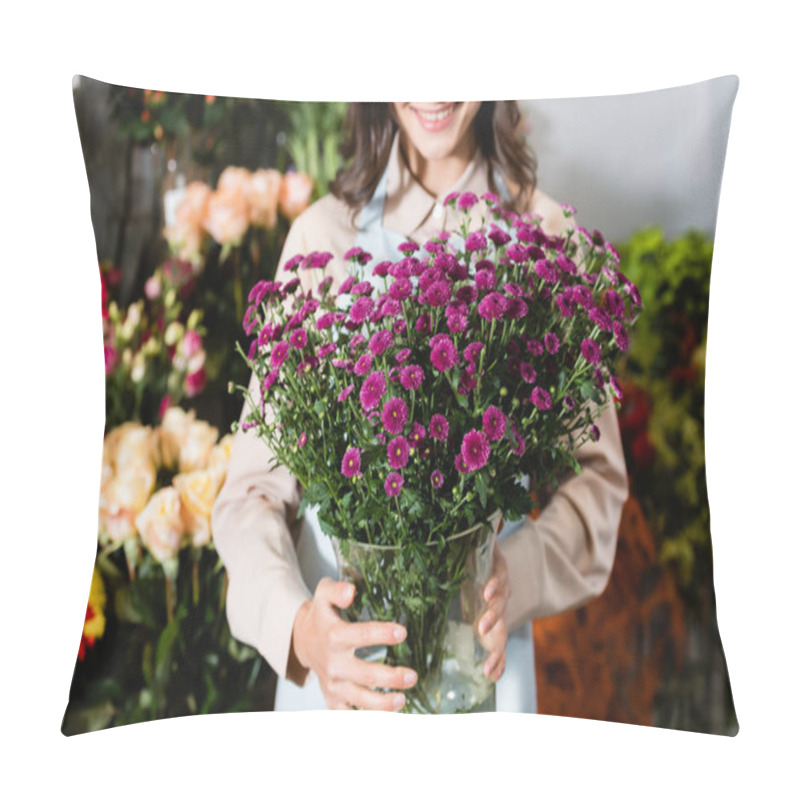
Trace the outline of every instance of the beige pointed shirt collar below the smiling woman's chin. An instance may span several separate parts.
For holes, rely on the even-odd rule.
[[[441,230],[453,230],[460,216],[445,207],[443,200],[451,192],[474,192],[480,197],[489,191],[489,170],[480,150],[469,162],[461,177],[438,197],[411,174],[400,150],[400,132],[395,131],[387,165],[386,205],[383,225],[389,230],[424,241]]]

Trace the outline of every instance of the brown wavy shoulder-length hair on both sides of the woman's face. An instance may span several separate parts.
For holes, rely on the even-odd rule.
[[[475,141],[489,163],[489,187],[497,193],[494,170],[499,168],[512,194],[511,209],[530,207],[536,188],[536,156],[520,135],[522,119],[515,100],[481,103],[473,120]],[[331,181],[331,193],[344,200],[354,214],[366,205],[386,169],[392,140],[398,129],[390,103],[350,103],[344,141],[345,166]]]

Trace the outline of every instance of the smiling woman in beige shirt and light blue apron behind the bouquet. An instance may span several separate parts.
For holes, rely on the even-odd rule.
[[[513,102],[352,105],[349,166],[331,194],[294,222],[280,264],[297,253],[331,252],[324,271],[300,277],[304,289],[313,289],[331,276],[335,290],[351,269],[342,260],[351,247],[374,261],[396,260],[403,241],[454,230],[460,220],[442,202],[452,191],[492,191],[515,211],[539,214],[548,234],[561,233],[561,207],[536,188],[536,163],[516,136],[518,121]],[[256,384],[250,388],[257,396]],[[627,478],[613,409],[597,424],[599,441],[578,453],[580,476],[561,486],[537,520],[506,526],[496,548],[479,630],[488,642],[485,672],[498,681],[499,711],[536,710],[530,620],[586,602],[608,580]],[[267,459],[254,433],[237,433],[212,516],[230,579],[233,635],[277,672],[276,710],[402,708],[403,689],[417,676],[368,664],[355,650],[394,644],[406,631],[340,618],[337,609],[352,602],[354,587],[336,580],[332,546],[313,510],[296,520],[297,481],[283,467],[269,472]]]

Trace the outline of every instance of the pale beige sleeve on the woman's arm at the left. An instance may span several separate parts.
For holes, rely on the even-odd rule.
[[[292,226],[279,265],[305,253],[301,226]],[[260,400],[251,375],[248,393]],[[240,422],[249,409],[245,401]],[[225,483],[217,496],[211,528],[228,574],[226,613],[231,633],[256,648],[275,672],[287,675],[294,618],[311,597],[297,560],[291,525],[300,501],[296,478],[283,465],[270,470],[271,453],[254,430],[234,437]]]

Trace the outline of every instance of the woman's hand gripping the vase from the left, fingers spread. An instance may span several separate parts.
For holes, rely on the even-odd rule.
[[[417,674],[403,667],[371,664],[355,651],[373,645],[393,645],[406,638],[406,629],[393,622],[345,622],[337,608],[347,608],[355,586],[323,578],[297,612],[292,646],[297,660],[314,672],[328,707],[397,711],[405,705],[402,692],[383,694],[380,689],[408,689]]]

